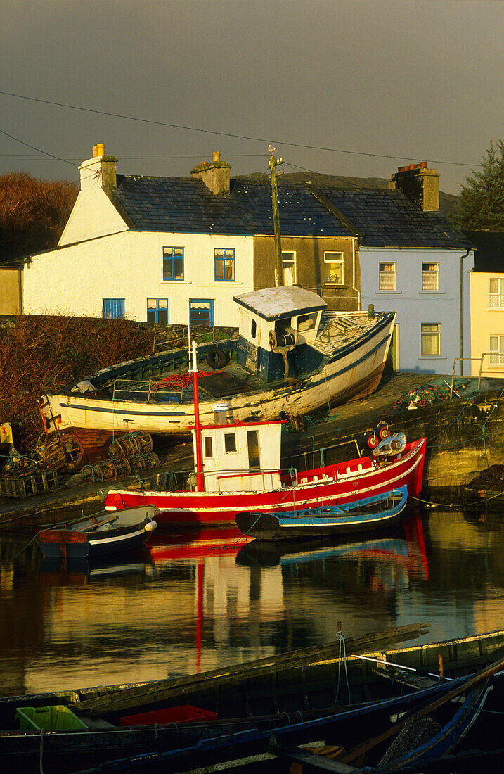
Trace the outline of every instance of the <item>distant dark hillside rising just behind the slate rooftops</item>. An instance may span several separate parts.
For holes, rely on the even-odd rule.
[[[240,175],[234,178],[248,183],[269,183],[267,173],[254,172],[249,175]],[[348,190],[388,190],[389,181],[381,177],[344,177],[337,175],[326,175],[322,172],[289,172],[278,177],[278,185],[282,183],[304,183],[305,180],[311,180],[319,188],[346,188]],[[453,218],[458,204],[458,197],[454,194],[444,194],[439,192],[439,209],[449,217]]]

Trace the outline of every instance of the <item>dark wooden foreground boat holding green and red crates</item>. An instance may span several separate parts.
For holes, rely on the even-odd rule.
[[[187,771],[192,764],[221,762],[240,750],[247,755],[257,748],[264,752],[271,731],[281,745],[329,738],[348,749],[387,731],[391,716],[399,720],[402,713],[450,692],[458,696],[461,683],[467,699],[475,686],[467,685],[466,676],[487,668],[499,652],[502,655],[504,632],[349,656],[421,632],[425,632],[421,625],[410,625],[155,683],[1,699],[2,771],[29,770],[42,761],[45,771],[74,772],[104,766],[114,758],[122,758],[122,770],[129,770],[130,762],[124,758],[131,755],[152,755],[152,772],[158,763],[164,770]],[[492,706],[499,706],[500,686],[490,698]],[[469,700],[466,720],[477,715],[477,702],[475,695]],[[79,728],[19,730],[21,713],[29,716],[29,708],[43,707],[39,710],[43,715],[50,706],[70,710]],[[441,717],[442,725],[451,717],[452,712]],[[485,716],[485,722],[491,719]],[[461,726],[456,721],[450,728],[457,729],[456,735]],[[233,745],[223,752],[220,740],[231,736]],[[247,745],[240,747],[242,741]],[[172,755],[195,746],[195,758],[180,752]],[[158,759],[165,752],[172,757]]]

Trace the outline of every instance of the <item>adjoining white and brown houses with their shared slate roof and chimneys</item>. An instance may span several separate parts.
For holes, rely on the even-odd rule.
[[[230,180],[214,154],[191,178],[117,175],[103,146],[80,166],[58,247],[25,269],[26,313],[236,325],[233,296],[272,286],[271,188]],[[359,308],[357,235],[304,185],[279,190],[286,283]]]

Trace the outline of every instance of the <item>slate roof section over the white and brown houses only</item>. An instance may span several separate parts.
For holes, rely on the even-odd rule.
[[[231,180],[229,196],[214,196],[203,180],[117,175],[113,195],[141,231],[273,235],[271,187]],[[285,236],[351,236],[303,185],[278,190]]]

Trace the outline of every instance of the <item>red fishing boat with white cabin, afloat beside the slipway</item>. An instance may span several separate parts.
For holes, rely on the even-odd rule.
[[[191,481],[195,489],[114,488],[107,492],[105,509],[145,503],[156,505],[160,523],[199,526],[234,523],[238,512],[339,507],[404,487],[408,495],[420,495],[424,438],[407,444],[400,433],[404,443],[399,451],[390,449],[390,454],[384,454],[379,444],[368,449],[366,456],[349,461],[308,471],[282,470],[281,426],[275,421],[197,426]]]

